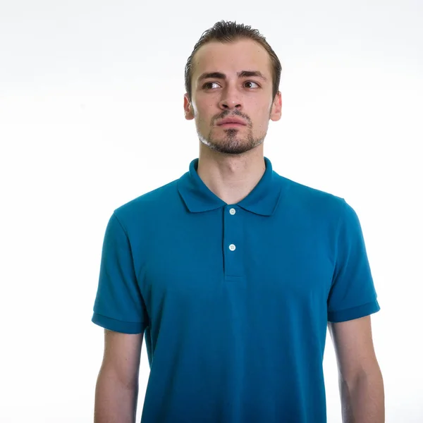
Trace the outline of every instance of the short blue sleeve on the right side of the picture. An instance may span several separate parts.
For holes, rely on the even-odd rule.
[[[343,200],[336,262],[329,292],[328,321],[358,319],[379,312],[362,228],[355,210]]]

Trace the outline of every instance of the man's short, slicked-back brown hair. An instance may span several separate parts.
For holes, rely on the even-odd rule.
[[[258,42],[270,56],[270,63],[272,68],[272,99],[275,98],[276,93],[279,90],[279,82],[281,82],[281,71],[282,66],[281,62],[276,56],[276,53],[266,42],[266,38],[259,33],[258,30],[253,30],[249,25],[244,25],[243,23],[236,23],[225,20],[220,20],[216,22],[211,28],[204,31],[202,36],[198,40],[197,44],[194,46],[194,50],[190,57],[188,58],[187,64],[185,65],[185,90],[188,94],[188,100],[192,101],[192,90],[191,90],[191,80],[193,73],[192,59],[198,49],[202,47],[207,42],[219,41],[221,43],[229,43],[238,41],[238,39],[252,39],[255,42]]]

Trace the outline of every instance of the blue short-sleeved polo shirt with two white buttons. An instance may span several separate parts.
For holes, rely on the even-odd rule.
[[[142,423],[324,423],[328,321],[380,309],[353,208],[264,162],[237,204],[194,159],[109,220],[92,321],[145,333]]]

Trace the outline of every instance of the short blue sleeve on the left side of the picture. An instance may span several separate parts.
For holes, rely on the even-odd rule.
[[[111,331],[144,333],[148,326],[128,235],[115,213],[104,235],[93,311],[92,322]]]

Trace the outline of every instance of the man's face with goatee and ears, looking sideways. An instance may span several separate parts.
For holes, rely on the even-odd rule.
[[[185,118],[195,119],[200,142],[224,154],[243,154],[261,145],[269,119],[281,118],[281,92],[272,99],[267,51],[250,39],[209,42],[196,52],[193,70],[192,102],[185,94],[184,109]],[[219,125],[233,117],[245,125]]]

